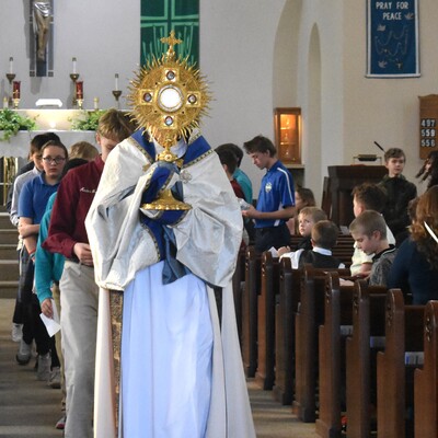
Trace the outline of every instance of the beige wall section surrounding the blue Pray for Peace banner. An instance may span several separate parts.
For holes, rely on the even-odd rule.
[[[438,10],[418,1],[420,78],[369,79],[366,73],[366,8],[345,8],[344,161],[357,153],[379,153],[373,145],[400,147],[407,158],[405,175],[415,182],[419,160],[419,95],[437,93]],[[348,36],[348,39],[347,39]],[[419,187],[423,191],[424,187]]]

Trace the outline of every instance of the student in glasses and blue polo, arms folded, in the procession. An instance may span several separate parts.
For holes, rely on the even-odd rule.
[[[27,263],[22,265],[20,298],[24,306],[24,326],[31,327],[35,337],[38,354],[37,379],[48,381],[50,368],[59,367],[59,360],[56,355],[54,338],[48,336],[39,318],[38,299],[33,293],[34,262],[39,222],[48,198],[58,189],[59,180],[68,159],[68,151],[60,141],[50,140],[43,146],[41,154],[44,171],[41,175],[24,184],[19,199],[19,232],[28,254]],[[23,353],[26,353],[30,357],[31,344],[27,341],[25,333],[23,333],[22,344],[24,345],[20,346],[18,360]]]

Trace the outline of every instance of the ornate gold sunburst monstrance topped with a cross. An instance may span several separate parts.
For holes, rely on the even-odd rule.
[[[160,59],[153,57],[141,68],[131,82],[128,101],[138,125],[164,147],[157,160],[174,162],[177,157],[172,153],[171,147],[198,127],[200,116],[207,112],[210,95],[199,70],[188,66],[187,58],[176,58],[173,46],[182,41],[175,38],[174,31],[160,41],[169,45],[168,51]],[[168,189],[155,201],[141,208],[185,210],[191,206],[174,199]]]

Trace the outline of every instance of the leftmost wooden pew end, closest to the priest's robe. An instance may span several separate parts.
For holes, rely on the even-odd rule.
[[[246,377],[257,369],[257,296],[261,284],[261,256],[246,249],[245,287],[242,290],[242,360]]]

